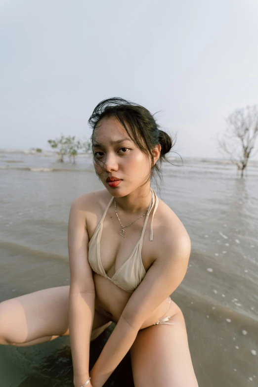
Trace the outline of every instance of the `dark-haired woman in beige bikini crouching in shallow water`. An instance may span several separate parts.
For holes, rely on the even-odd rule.
[[[190,238],[150,187],[172,139],[147,109],[122,98],[101,101],[88,122],[105,189],[71,206],[70,287],[2,302],[0,343],[70,334],[75,387],[102,387],[129,350],[135,387],[197,387],[184,317],[170,298],[185,276]],[[90,340],[112,321],[89,372]]]

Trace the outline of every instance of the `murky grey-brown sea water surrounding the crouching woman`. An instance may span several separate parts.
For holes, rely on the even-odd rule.
[[[171,159],[172,160],[172,159]],[[164,164],[153,188],[183,222],[191,256],[172,299],[183,311],[199,387],[258,386],[258,162]],[[67,224],[78,195],[102,189],[89,155],[0,151],[0,301],[69,285]],[[91,348],[94,362],[105,332]],[[2,387],[73,386],[69,338],[0,347]],[[122,380],[122,382],[121,382]],[[106,386],[133,386],[129,357]]]

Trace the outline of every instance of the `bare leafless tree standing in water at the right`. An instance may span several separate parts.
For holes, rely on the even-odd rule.
[[[226,123],[225,134],[217,137],[218,150],[237,166],[243,177],[258,136],[258,105],[236,109]]]

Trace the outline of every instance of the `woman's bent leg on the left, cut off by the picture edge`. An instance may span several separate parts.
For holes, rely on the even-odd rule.
[[[0,344],[28,346],[69,335],[69,288],[43,289],[2,301]],[[108,320],[95,310],[91,340],[96,339],[108,325]]]

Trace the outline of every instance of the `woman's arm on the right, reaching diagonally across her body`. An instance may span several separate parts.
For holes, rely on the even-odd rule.
[[[130,297],[122,315],[90,371],[94,387],[102,387],[133,344],[148,316],[182,282],[189,261],[191,242],[188,234],[172,243],[164,240],[159,256]]]

